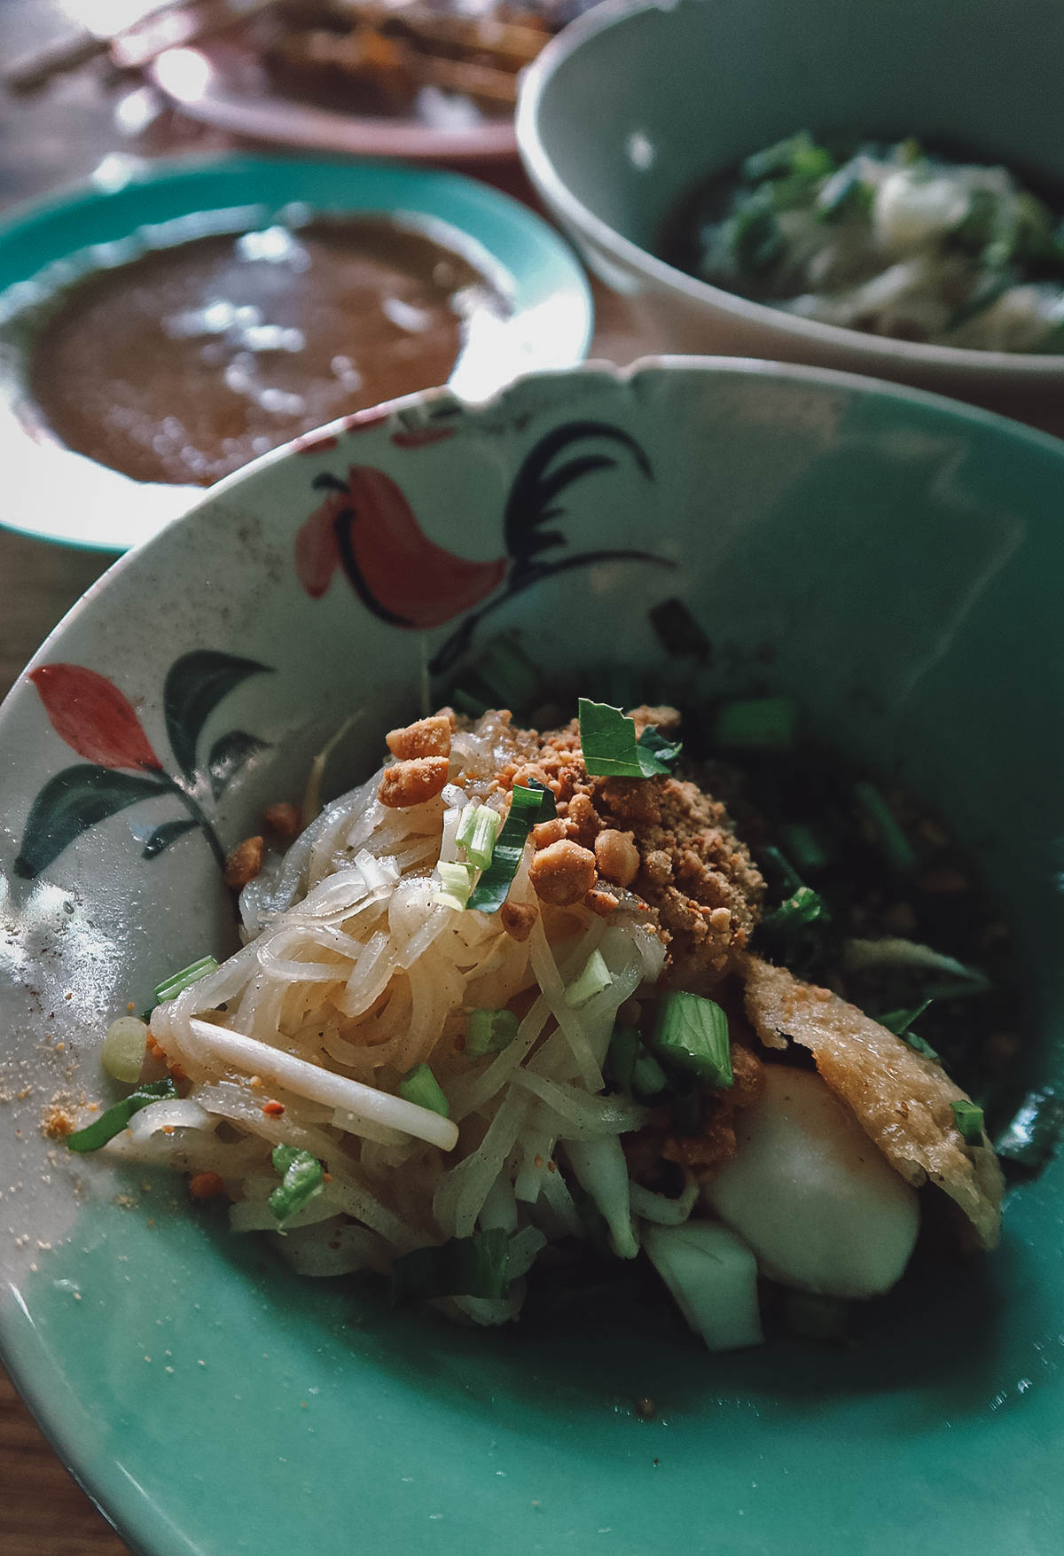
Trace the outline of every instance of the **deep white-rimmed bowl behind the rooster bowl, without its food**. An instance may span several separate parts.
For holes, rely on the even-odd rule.
[[[1064,356],[913,345],[798,319],[656,258],[700,179],[796,129],[947,143],[1064,187],[1064,9],[1016,0],[607,0],[523,79],[518,145],[548,210],[664,350],[818,363],[1024,414]]]

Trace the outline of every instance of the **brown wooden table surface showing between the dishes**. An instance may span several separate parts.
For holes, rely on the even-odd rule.
[[[64,9],[67,16],[64,16]],[[0,0],[0,61],[68,31],[76,0]],[[129,101],[134,92],[138,98]],[[124,104],[124,109],[123,109]],[[0,209],[86,177],[114,152],[151,156],[238,145],[168,110],[148,89],[117,81],[104,65],[56,81],[33,98],[0,89]],[[121,109],[121,112],[118,112]],[[137,135],[123,132],[143,115]],[[530,199],[520,170],[492,182]],[[593,355],[632,361],[639,341],[625,307],[596,293]],[[44,638],[110,563],[98,551],[50,546],[0,529],[0,699]],[[110,1525],[67,1475],[11,1380],[0,1369],[0,1556],[129,1556]]]

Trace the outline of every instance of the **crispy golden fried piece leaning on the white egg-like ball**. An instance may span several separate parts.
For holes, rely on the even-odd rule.
[[[907,1183],[930,1179],[971,1221],[978,1245],[997,1245],[1005,1181],[985,1144],[968,1147],[950,1102],[966,1094],[940,1064],[837,994],[801,983],[786,968],[742,958],[747,1015],[765,1047],[809,1049],[817,1069]]]

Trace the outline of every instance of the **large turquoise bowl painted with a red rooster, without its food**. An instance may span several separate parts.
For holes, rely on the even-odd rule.
[[[515,473],[568,423],[622,429],[650,475],[588,431],[585,451],[614,462],[565,492],[558,557],[649,560],[502,585],[423,633],[339,574],[317,599],[300,585],[296,534],[334,501],[322,478],[356,481],[353,467],[395,482],[383,532],[409,510],[437,546],[506,559]],[[820,731],[950,814],[1017,935],[1024,1078],[1059,1083],[1061,490],[1062,445],[982,412],[807,369],[663,359],[530,378],[484,406],[436,392],[333,428],[222,482],[72,612],[0,713],[0,1340],[134,1550],[1064,1548],[1064,1162],[1013,1190],[999,1253],[938,1285],[913,1277],[856,1349],[722,1357],[621,1304],[546,1332],[394,1316],[350,1284],[288,1274],[180,1183],[72,1161],[39,1133],[56,1092],[98,1092],[112,1013],[229,949],[212,839],[232,846],[297,792],[352,710],[333,789],[417,708],[425,650],[518,629],[548,669],[616,655],[667,682],[647,619],[667,598],[705,624],[722,686],[796,694]],[[409,587],[408,566],[373,602],[401,610]],[[163,685],[188,691],[205,661],[187,657],[204,652],[213,691],[180,699],[199,714],[174,750]],[[31,680],[44,666],[65,669]],[[268,744],[244,742],[213,798],[207,753],[233,730]],[[176,834],[188,808],[159,769],[123,769],[143,741],[198,797],[191,831]],[[45,828],[45,786],[90,766],[96,809],[53,804]]]

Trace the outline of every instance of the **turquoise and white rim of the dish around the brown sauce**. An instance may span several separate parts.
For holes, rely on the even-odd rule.
[[[291,205],[440,223],[450,241],[490,271],[509,296],[510,314],[501,328],[471,338],[453,377],[459,394],[481,398],[521,372],[569,367],[586,355],[593,330],[586,277],[572,251],[527,207],[456,173],[339,159],[109,157],[92,184],[23,205],[0,223],[0,294],[6,294],[0,327],[5,303],[17,303],[20,285],[42,272],[56,285],[128,258],[131,237],[154,246],[218,230],[221,221],[264,226]],[[0,372],[0,464],[8,487],[2,524],[42,540],[124,551],[199,501],[202,487],[131,481],[31,437],[20,378],[17,366]]]

